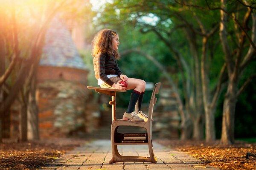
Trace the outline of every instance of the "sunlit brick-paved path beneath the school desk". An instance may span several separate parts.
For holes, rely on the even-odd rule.
[[[169,149],[153,142],[157,163],[117,162],[109,164],[112,158],[111,141],[96,140],[77,147],[64,154],[61,159],[51,162],[40,170],[218,170],[215,167],[205,166],[202,161],[186,153]],[[118,146],[124,156],[148,156],[148,145]]]

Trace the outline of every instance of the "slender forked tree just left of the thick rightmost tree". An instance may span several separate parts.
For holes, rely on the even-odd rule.
[[[219,95],[223,89],[223,82],[225,81],[225,75],[226,75],[226,65],[221,63],[222,68],[219,70],[219,76],[217,78],[217,81],[210,82],[210,72],[209,68],[211,67],[211,60],[219,58],[218,55],[214,52],[216,49],[218,49],[218,41],[214,41],[214,39],[218,38],[216,37],[216,32],[218,30],[218,16],[216,12],[212,12],[209,8],[206,8],[205,5],[202,2],[195,2],[195,1],[188,1],[186,3],[180,3],[178,1],[175,1],[177,4],[179,4],[182,7],[187,7],[190,9],[191,15],[195,18],[195,23],[185,21],[187,28],[191,30],[190,32],[194,34],[198,34],[198,40],[201,40],[201,43],[197,43],[195,41],[195,38],[192,38],[192,33],[187,33],[190,37],[188,40],[190,42],[190,46],[192,48],[191,51],[198,55],[201,48],[201,61],[200,57],[197,57],[196,62],[198,65],[201,65],[200,74],[201,74],[201,88],[202,88],[202,99],[204,103],[204,112],[205,112],[205,136],[207,141],[213,141],[215,140],[215,110],[217,107],[217,102]],[[208,4],[209,5],[209,4]],[[215,17],[215,20],[212,21],[212,23],[209,25],[205,21],[205,17],[208,18]],[[217,19],[216,19],[217,18]],[[183,19],[184,20],[184,19]],[[208,19],[209,20],[209,19]],[[209,30],[209,31],[208,31]],[[201,46],[200,46],[201,45]],[[198,73],[197,73],[198,74]],[[216,76],[217,77],[217,76]],[[211,77],[212,78],[212,77]],[[210,88],[210,85],[213,84],[214,88]]]

